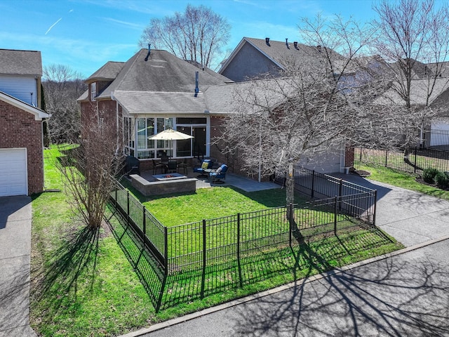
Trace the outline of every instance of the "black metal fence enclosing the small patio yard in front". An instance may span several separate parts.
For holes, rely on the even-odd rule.
[[[298,171],[295,181],[297,188],[304,185],[312,194],[335,197],[309,201],[301,208],[283,206],[175,227],[162,225],[119,183],[111,194],[111,204],[166,274],[200,270],[225,261],[239,263],[253,253],[374,227],[374,190],[313,171]]]

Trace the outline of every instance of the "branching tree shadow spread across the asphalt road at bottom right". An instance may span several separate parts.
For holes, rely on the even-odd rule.
[[[329,272],[318,282],[300,280],[236,307],[230,329],[239,336],[447,336],[448,265],[416,255]]]

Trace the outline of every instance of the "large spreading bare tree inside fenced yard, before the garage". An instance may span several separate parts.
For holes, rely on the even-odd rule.
[[[281,77],[234,85],[236,112],[220,137],[247,169],[286,174],[287,204],[294,200],[293,165],[345,145],[390,145],[405,128],[403,112],[376,104],[385,91],[377,58],[356,58],[369,29],[318,16],[303,20],[300,33],[313,46],[300,63],[288,64]]]

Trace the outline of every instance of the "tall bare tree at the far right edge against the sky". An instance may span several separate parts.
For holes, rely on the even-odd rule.
[[[449,80],[443,77],[449,53],[447,6],[437,8],[434,0],[382,0],[374,9],[379,18],[373,21],[377,32],[373,50],[387,61],[386,81],[399,98],[389,104],[394,110],[405,105],[410,114],[420,108],[429,112]],[[410,128],[404,134],[406,159],[415,133],[416,128]]]

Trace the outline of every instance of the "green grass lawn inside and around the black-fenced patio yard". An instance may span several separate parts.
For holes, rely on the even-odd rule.
[[[174,272],[159,298],[163,277],[129,227],[111,218],[112,232],[105,226],[91,233],[73,216],[71,199],[53,165],[58,156],[55,148],[44,152],[46,189],[61,192],[32,197],[30,322],[41,336],[116,336],[402,247],[380,230],[361,230],[259,251],[239,266],[235,260],[217,260],[204,275]],[[283,193],[213,187],[198,194],[148,199],[145,204],[164,225],[179,225],[280,206]],[[161,310],[156,313],[158,302]]]

